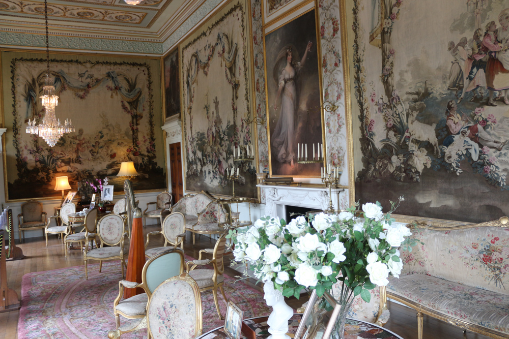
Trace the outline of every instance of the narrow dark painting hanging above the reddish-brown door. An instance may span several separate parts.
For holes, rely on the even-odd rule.
[[[163,60],[164,113],[169,118],[180,115],[179,49],[170,52]]]

